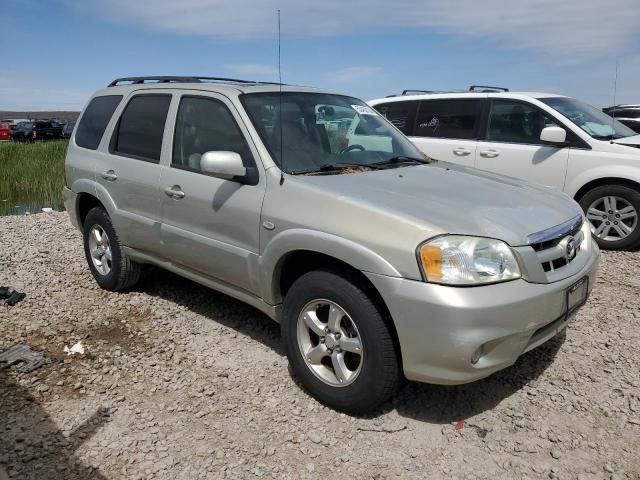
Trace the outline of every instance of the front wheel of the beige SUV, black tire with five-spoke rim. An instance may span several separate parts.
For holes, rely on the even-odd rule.
[[[303,320],[308,318],[304,312],[315,312],[317,321],[311,323],[318,330],[318,326],[331,324],[324,321],[331,309],[345,315],[337,323],[338,328],[324,332],[324,337],[314,333]],[[342,334],[336,337],[336,332]],[[306,273],[284,299],[282,336],[293,373],[313,397],[343,412],[361,414],[373,410],[397,391],[403,377],[393,335],[371,298],[356,281],[341,273]],[[354,353],[358,341],[360,355]],[[324,364],[318,360],[323,354],[313,354],[321,348],[326,355],[322,358]],[[314,365],[307,361],[312,357]],[[343,366],[338,370],[347,375],[336,374],[334,361]]]

